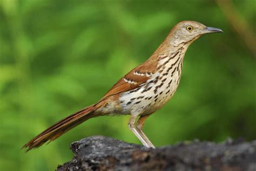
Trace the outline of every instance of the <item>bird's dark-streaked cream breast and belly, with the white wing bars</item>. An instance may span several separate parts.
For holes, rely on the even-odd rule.
[[[179,85],[185,51],[186,47],[181,46],[177,51],[158,56],[155,73],[134,71],[134,75],[145,76],[148,79],[143,85],[120,95],[122,114],[146,115],[166,104]],[[123,80],[130,84],[138,84],[126,77]]]

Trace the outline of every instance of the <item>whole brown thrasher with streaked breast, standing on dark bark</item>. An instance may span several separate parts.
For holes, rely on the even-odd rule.
[[[164,106],[176,91],[187,47],[201,35],[213,32],[223,31],[194,21],[178,23],[149,59],[119,79],[96,104],[60,120],[23,147],[29,151],[53,141],[90,118],[131,114],[128,124],[131,131],[144,146],[154,148],[142,131],[146,118]]]

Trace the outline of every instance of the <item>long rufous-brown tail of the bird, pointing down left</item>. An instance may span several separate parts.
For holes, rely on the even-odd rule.
[[[96,115],[93,115],[93,111],[94,107],[91,105],[70,115],[69,117],[58,121],[55,125],[52,125],[51,127],[45,129],[45,131],[42,133],[38,134],[35,138],[26,143],[22,148],[28,148],[26,150],[26,152],[28,152],[32,148],[42,146],[47,141],[51,142],[57,139],[60,135],[81,124],[85,120],[96,117]]]

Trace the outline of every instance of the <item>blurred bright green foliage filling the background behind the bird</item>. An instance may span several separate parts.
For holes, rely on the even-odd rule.
[[[234,1],[255,26],[255,1]],[[53,170],[72,141],[105,135],[140,143],[129,116],[86,121],[24,153],[25,142],[96,102],[146,60],[181,20],[224,30],[188,49],[172,100],[147,119],[156,146],[178,141],[256,138],[255,59],[214,1],[0,1],[0,170]],[[253,28],[254,30],[254,28]]]

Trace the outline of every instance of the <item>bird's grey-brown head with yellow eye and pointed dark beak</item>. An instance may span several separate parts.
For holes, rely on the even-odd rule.
[[[179,44],[190,45],[194,40],[198,39],[201,35],[206,33],[223,32],[220,29],[207,27],[204,24],[194,22],[194,21],[183,21],[176,24],[170,34],[170,43],[173,46],[178,46]]]

